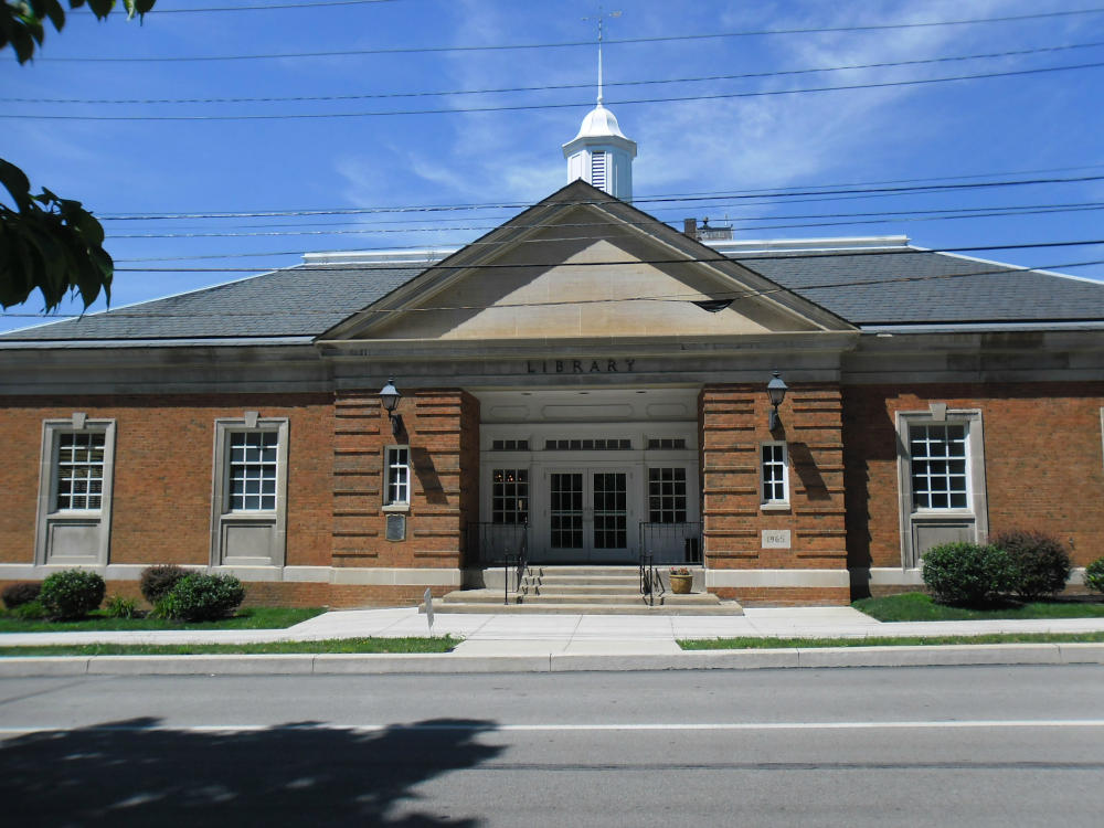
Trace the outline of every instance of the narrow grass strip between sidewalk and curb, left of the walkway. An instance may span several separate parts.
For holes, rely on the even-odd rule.
[[[329,638],[322,641],[259,641],[256,644],[57,644],[0,647],[0,657],[450,652],[460,640],[452,636],[435,636],[433,638]]]

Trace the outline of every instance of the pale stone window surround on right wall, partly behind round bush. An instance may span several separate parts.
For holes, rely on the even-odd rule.
[[[966,454],[966,506],[916,508],[912,488],[912,428],[915,426],[964,426]],[[901,531],[901,565],[921,565],[919,535],[944,532],[946,537],[963,535],[984,542],[989,534],[988,505],[985,482],[985,433],[979,408],[948,408],[945,403],[932,403],[926,411],[896,414],[898,443],[898,513]]]

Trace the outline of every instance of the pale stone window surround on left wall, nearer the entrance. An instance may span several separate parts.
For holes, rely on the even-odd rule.
[[[276,436],[276,508],[233,509],[231,502],[231,438],[235,434],[273,432]],[[214,429],[211,493],[211,565],[283,566],[287,555],[287,417],[262,417],[245,412],[242,417],[219,418]],[[229,540],[234,532],[266,532],[268,554],[237,559]]]

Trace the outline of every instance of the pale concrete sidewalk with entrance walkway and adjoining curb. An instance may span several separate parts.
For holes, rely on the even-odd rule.
[[[415,608],[330,612],[287,629],[7,633],[0,645],[245,644],[425,636]],[[74,673],[468,672],[694,669],[933,664],[1104,664],[1104,644],[963,645],[683,651],[680,638],[866,638],[989,633],[1104,631],[1104,618],[883,624],[851,607],[749,608],[743,616],[452,615],[434,635],[464,641],[449,654],[95,656],[0,659],[0,676]],[[83,666],[83,667],[82,667]]]

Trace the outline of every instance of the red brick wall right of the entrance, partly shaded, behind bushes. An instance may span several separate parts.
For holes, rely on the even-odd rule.
[[[894,416],[932,402],[981,412],[990,534],[1049,532],[1079,566],[1104,555],[1104,383],[872,385],[843,390],[851,566],[901,565]]]

